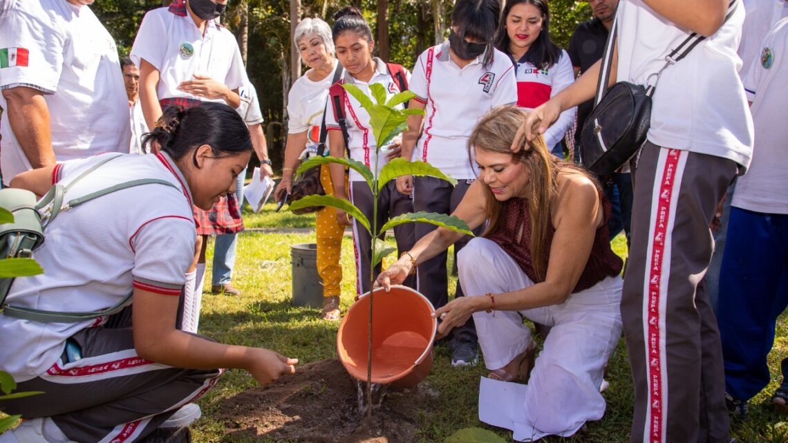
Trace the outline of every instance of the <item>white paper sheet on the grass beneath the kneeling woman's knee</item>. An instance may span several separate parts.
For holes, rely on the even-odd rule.
[[[537,441],[545,434],[525,420],[523,399],[526,397],[528,385],[521,383],[500,382],[492,378],[481,377],[479,383],[479,420],[492,426],[511,430],[515,441]],[[576,433],[582,423],[563,435],[568,437]]]

